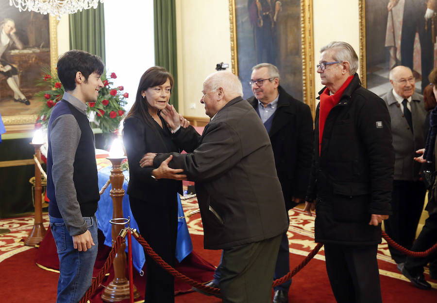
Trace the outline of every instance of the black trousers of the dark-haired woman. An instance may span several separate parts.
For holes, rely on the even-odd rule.
[[[164,194],[162,203],[150,203],[129,196],[140,234],[169,265],[176,261],[178,204],[176,193]],[[147,303],[174,303],[174,278],[146,253]]]

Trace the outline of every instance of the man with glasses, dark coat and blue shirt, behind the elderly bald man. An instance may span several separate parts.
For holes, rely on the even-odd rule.
[[[255,109],[269,133],[276,172],[281,182],[286,210],[304,202],[311,168],[313,117],[309,106],[294,99],[279,85],[280,75],[276,66],[261,63],[252,68],[249,85],[253,97],[247,101]],[[273,279],[290,271],[287,232],[282,234]],[[220,262],[221,264],[221,262]],[[220,265],[214,280],[208,286],[218,287]],[[291,279],[274,288],[273,303],[287,303]],[[206,294],[199,288],[196,291]]]

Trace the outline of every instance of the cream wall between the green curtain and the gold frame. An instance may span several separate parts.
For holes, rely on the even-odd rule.
[[[176,22],[179,111],[207,117],[200,103],[203,80],[217,63],[231,65],[229,1],[176,0]]]

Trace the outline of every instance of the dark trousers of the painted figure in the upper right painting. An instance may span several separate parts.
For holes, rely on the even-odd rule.
[[[434,66],[432,24],[431,19],[425,20],[425,11],[424,1],[405,0],[401,36],[401,64],[413,70],[414,38],[419,32],[422,92],[428,85],[428,75]]]

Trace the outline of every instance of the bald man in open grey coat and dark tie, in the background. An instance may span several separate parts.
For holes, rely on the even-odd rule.
[[[411,249],[416,236],[425,198],[425,185],[420,181],[420,163],[413,160],[416,150],[425,146],[426,111],[423,96],[415,92],[411,70],[397,66],[390,71],[393,89],[383,96],[391,118],[395,151],[391,208],[393,214],[384,221],[387,234],[397,243]],[[391,257],[402,271],[405,254],[389,247]]]

